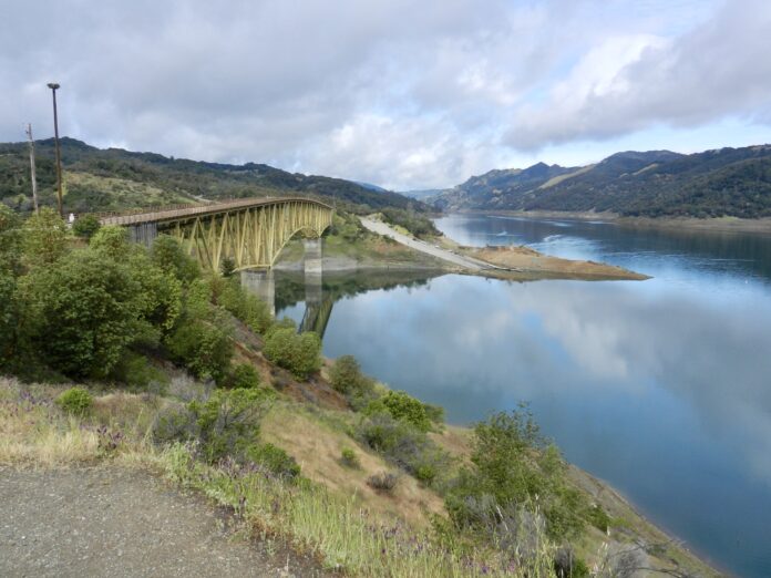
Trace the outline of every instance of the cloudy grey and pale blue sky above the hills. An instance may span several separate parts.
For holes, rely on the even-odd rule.
[[[769,0],[0,0],[0,141],[394,189],[771,142]]]

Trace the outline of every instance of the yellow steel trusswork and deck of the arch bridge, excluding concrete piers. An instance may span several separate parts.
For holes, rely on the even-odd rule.
[[[132,240],[147,246],[158,234],[172,235],[203,267],[216,271],[225,258],[237,270],[273,267],[298,233],[321,237],[333,213],[311,198],[268,197],[102,216],[100,223],[127,227]]]

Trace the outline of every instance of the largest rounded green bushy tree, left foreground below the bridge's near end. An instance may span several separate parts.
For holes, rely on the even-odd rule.
[[[90,249],[33,269],[20,287],[33,351],[66,375],[105,376],[140,329],[141,290],[128,267]]]

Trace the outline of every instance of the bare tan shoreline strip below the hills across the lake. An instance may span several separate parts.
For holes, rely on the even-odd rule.
[[[771,217],[743,219],[739,217],[625,217],[616,213],[567,210],[486,210],[461,209],[445,215],[487,215],[531,219],[570,219],[600,221],[630,228],[689,229],[709,233],[759,233],[771,235]]]

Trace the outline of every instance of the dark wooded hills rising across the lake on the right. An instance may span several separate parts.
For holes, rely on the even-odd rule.
[[[771,145],[689,155],[627,151],[583,167],[494,169],[426,202],[443,210],[771,217]]]

